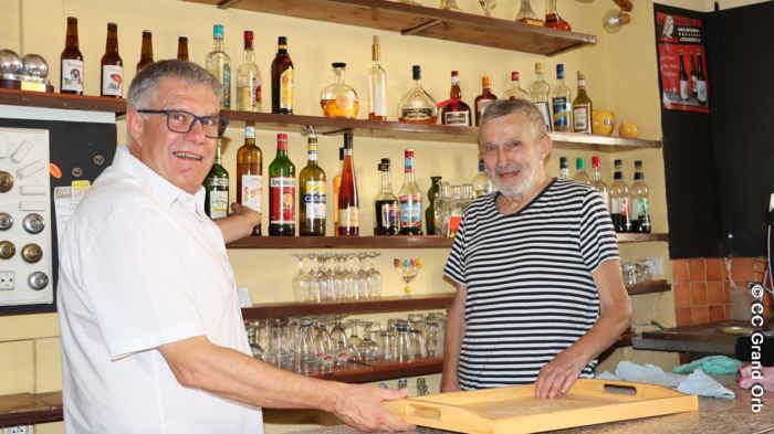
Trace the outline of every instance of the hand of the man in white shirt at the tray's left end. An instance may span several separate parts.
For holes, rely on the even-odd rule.
[[[385,401],[400,400],[406,396],[408,396],[407,389],[389,390],[352,384],[336,402],[334,413],[347,425],[362,431],[408,431],[414,426],[383,405]]]

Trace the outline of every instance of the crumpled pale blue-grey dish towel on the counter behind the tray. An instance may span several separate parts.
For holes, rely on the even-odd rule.
[[[616,367],[615,375],[610,372],[603,372],[597,375],[600,380],[624,380],[639,381],[642,383],[665,385],[677,389],[682,393],[690,393],[700,396],[734,399],[734,392],[725,389],[721,383],[705,374],[697,368],[690,375],[679,375],[667,373],[661,368],[646,364],[640,366],[630,361],[621,361]]]

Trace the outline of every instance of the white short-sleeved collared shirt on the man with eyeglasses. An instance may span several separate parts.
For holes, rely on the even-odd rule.
[[[223,237],[191,195],[118,148],[60,247],[67,433],[262,433],[261,410],[181,387],[159,346],[250,354]]]

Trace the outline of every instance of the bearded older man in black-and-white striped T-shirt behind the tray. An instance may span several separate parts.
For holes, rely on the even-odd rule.
[[[590,186],[548,177],[541,112],[490,104],[479,146],[499,192],[466,210],[443,273],[457,283],[441,391],[535,383],[566,393],[629,326],[616,234]]]

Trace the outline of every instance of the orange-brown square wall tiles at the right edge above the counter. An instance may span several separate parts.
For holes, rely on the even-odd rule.
[[[762,257],[692,258],[672,261],[672,290],[678,327],[732,319],[732,290],[747,290],[747,282],[762,282]],[[730,274],[729,274],[730,273]],[[731,282],[736,289],[732,289]],[[774,297],[766,294],[765,316]]]

